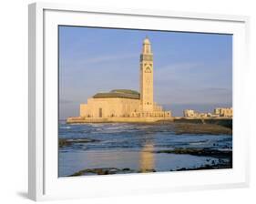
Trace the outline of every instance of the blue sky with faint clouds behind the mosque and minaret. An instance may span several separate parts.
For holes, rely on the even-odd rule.
[[[139,90],[142,42],[154,54],[154,100],[174,115],[212,111],[232,102],[232,36],[59,26],[60,118],[78,116],[97,92]]]

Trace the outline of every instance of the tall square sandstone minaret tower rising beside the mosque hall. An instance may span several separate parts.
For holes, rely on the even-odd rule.
[[[153,111],[153,53],[146,37],[140,55],[140,105],[142,111]]]

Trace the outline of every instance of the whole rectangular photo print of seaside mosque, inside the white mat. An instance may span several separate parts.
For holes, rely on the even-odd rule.
[[[58,176],[232,168],[232,35],[58,26]]]

